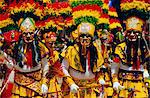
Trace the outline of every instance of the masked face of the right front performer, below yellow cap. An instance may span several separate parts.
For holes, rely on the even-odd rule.
[[[129,30],[127,31],[126,37],[128,38],[129,41],[137,41],[139,34],[140,34],[139,31]]]

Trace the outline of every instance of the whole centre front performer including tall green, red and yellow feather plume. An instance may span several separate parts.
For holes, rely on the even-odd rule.
[[[103,64],[101,52],[94,44],[95,26],[101,15],[101,1],[71,1],[73,21],[78,33],[75,44],[69,46],[62,61],[64,76],[64,96],[66,98],[96,98],[100,92],[101,75],[99,67]],[[74,36],[75,37],[75,36]],[[69,89],[70,88],[70,89]]]

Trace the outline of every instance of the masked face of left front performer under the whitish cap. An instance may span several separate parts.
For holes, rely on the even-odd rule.
[[[24,32],[23,33],[23,40],[25,43],[31,43],[34,40],[34,33],[33,32]]]

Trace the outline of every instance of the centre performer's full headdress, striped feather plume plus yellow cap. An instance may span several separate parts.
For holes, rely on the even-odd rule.
[[[95,27],[102,24],[103,2],[101,0],[70,0],[69,2],[72,6],[73,23],[78,26],[76,32],[86,32],[94,36]]]

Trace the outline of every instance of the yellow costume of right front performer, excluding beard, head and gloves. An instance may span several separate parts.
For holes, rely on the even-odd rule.
[[[119,97],[123,98],[148,98],[148,90],[144,83],[142,65],[139,70],[132,70],[127,66],[126,43],[119,44],[115,49],[115,54],[122,60],[120,65],[118,79],[121,85],[125,87],[120,91]]]

